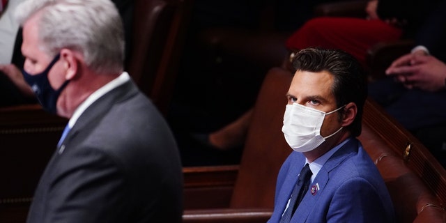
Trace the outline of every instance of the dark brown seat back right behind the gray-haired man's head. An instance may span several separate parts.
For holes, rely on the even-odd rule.
[[[126,70],[163,114],[173,95],[191,6],[190,0],[134,3],[132,47]]]

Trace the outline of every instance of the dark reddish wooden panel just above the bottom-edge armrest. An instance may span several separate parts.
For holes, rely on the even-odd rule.
[[[184,167],[184,208],[227,208],[231,202],[238,165]]]

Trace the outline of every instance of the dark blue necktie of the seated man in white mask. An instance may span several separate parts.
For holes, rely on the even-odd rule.
[[[299,174],[298,183],[295,184],[293,193],[291,194],[291,199],[288,208],[282,218],[280,218],[279,223],[290,222],[291,217],[295,212],[295,209],[298,208],[300,201],[305,196],[305,193],[308,191],[309,182],[312,178],[312,171],[309,169],[309,164],[305,164],[305,167],[302,168]]]

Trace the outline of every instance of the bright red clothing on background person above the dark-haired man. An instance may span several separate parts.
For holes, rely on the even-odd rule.
[[[306,22],[286,40],[289,49],[323,47],[342,49],[363,65],[367,49],[382,41],[401,38],[402,30],[381,20],[353,17],[316,17]]]

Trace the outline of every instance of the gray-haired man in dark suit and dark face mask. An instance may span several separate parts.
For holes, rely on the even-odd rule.
[[[171,130],[123,71],[109,0],[28,0],[24,79],[48,112],[70,118],[28,222],[181,222],[183,178]]]

